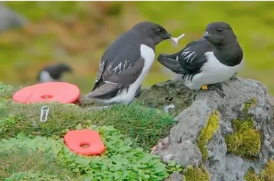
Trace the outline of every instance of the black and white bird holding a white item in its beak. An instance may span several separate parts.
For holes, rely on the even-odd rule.
[[[155,46],[170,38],[161,25],[136,24],[105,50],[95,85],[86,97],[97,104],[129,104],[153,64]]]

